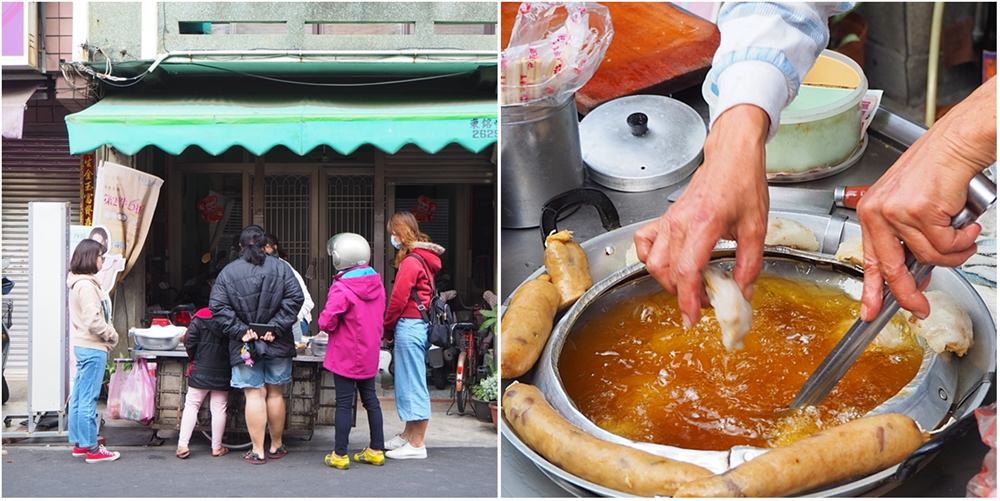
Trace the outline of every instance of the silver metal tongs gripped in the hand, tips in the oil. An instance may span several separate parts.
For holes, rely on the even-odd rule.
[[[965,208],[951,219],[951,225],[955,228],[963,228],[972,223],[996,203],[996,199],[996,184],[985,175],[977,174],[969,183],[969,195],[965,202]],[[920,285],[930,276],[934,266],[918,263],[913,254],[907,250],[906,268],[913,275],[917,285]],[[859,318],[854,322],[847,334],[844,334],[837,346],[830,351],[816,371],[802,385],[799,394],[796,395],[795,400],[792,400],[791,408],[798,409],[822,402],[897,311],[899,311],[899,303],[886,287],[882,294],[882,310],[879,311],[875,319],[871,322],[865,322]]]

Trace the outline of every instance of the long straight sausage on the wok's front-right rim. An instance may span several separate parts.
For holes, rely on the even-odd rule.
[[[676,497],[778,497],[888,468],[924,442],[902,414],[864,417],[772,449],[721,475],[690,482]]]

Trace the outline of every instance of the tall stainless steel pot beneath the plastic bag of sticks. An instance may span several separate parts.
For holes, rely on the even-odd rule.
[[[542,204],[584,181],[576,96],[557,106],[500,107],[500,224],[538,226]]]

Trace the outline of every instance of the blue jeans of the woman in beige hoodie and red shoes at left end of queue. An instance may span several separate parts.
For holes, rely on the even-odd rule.
[[[97,445],[97,398],[101,396],[108,353],[74,346],[76,379],[69,399],[69,443],[90,448]]]

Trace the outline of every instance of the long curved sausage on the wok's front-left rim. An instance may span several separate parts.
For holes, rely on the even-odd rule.
[[[503,412],[521,440],[549,462],[611,489],[638,496],[670,496],[678,486],[712,475],[700,466],[594,437],[566,421],[529,384],[507,387]]]

